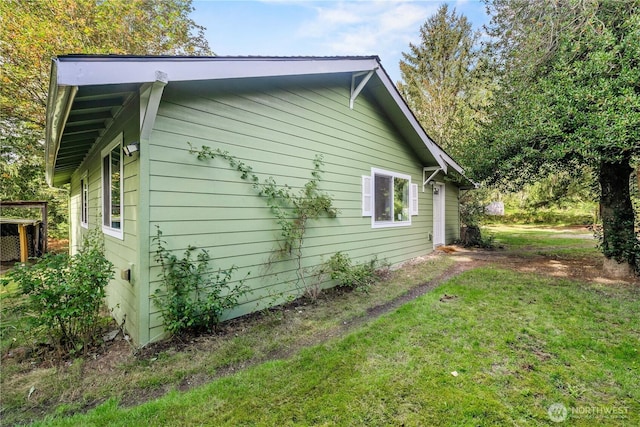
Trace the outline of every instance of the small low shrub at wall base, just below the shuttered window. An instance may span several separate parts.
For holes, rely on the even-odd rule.
[[[371,285],[387,275],[389,265],[386,262],[378,262],[377,257],[369,262],[354,265],[349,255],[336,252],[325,263],[325,270],[339,287],[367,292]]]

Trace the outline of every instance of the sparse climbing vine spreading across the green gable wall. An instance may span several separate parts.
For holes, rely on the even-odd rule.
[[[278,185],[271,176],[260,180],[251,166],[227,151],[207,146],[197,149],[191,143],[189,146],[189,152],[195,154],[198,160],[216,158],[226,160],[233,169],[240,173],[241,179],[250,182],[258,195],[265,198],[267,206],[271,209],[281,229],[281,252],[296,261],[296,274],[303,287],[306,288],[302,252],[308,223],[322,215],[335,218],[338,213],[333,206],[331,196],[319,190],[324,165],[322,155],[316,155],[313,160],[311,179],[302,188],[294,189],[288,185]]]

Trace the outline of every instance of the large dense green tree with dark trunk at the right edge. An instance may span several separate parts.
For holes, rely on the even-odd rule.
[[[640,153],[640,2],[495,0],[490,10],[500,90],[471,152],[476,176],[518,186],[590,167],[603,253],[640,269],[629,193]]]

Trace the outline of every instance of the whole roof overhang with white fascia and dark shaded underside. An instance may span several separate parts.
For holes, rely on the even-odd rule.
[[[114,72],[114,69],[117,72]],[[51,151],[47,152],[47,176],[49,177],[50,169],[53,176],[54,167],[55,171],[61,172],[73,168],[74,165],[79,166],[91,145],[105,132],[127,100],[139,92],[142,84],[156,81],[158,71],[166,73],[168,79],[174,82],[296,75],[348,75],[372,70],[375,78],[366,84],[365,90],[373,94],[419,157],[427,163],[437,163],[445,171],[447,166],[453,166],[456,171],[463,173],[460,166],[424,132],[377,57],[69,56],[55,59],[52,66],[52,84],[47,110],[47,147],[51,146]],[[71,100],[68,93],[70,87],[78,88],[75,98],[71,97]],[[65,99],[73,104],[67,105],[69,109],[66,112]],[[65,116],[64,123],[60,127],[62,116]],[[60,127],[58,134],[53,129],[56,124]],[[50,132],[50,127],[53,132]],[[61,174],[60,179],[55,181],[64,183],[68,181],[67,175],[70,176],[66,173]]]

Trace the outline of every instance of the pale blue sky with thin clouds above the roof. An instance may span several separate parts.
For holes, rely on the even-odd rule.
[[[218,55],[378,55],[393,81],[409,43],[444,1],[195,0],[192,18]],[[447,1],[475,29],[488,23],[479,0]]]

